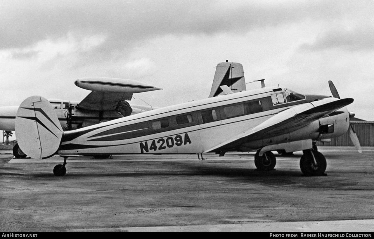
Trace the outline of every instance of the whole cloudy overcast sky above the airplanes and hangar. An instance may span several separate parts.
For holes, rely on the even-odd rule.
[[[303,94],[331,95],[374,120],[374,1],[0,1],[0,106],[31,95],[80,101],[74,80],[105,76],[163,88],[132,101],[207,98],[215,66],[243,64]],[[247,89],[261,87],[259,82]]]

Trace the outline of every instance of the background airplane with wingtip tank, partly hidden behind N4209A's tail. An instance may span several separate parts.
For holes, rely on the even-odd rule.
[[[74,84],[91,90],[81,102],[49,99],[63,130],[95,125],[120,117],[152,110],[153,107],[129,104],[134,93],[155,91],[160,88],[136,80],[108,77],[86,77]],[[16,113],[19,106],[0,107],[0,130],[15,130]],[[18,144],[13,146],[16,158],[25,158]]]

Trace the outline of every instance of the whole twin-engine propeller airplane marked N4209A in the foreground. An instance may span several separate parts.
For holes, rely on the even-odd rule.
[[[349,123],[353,113],[346,108],[353,99],[340,99],[332,82],[333,98],[303,95],[285,87],[265,87],[263,82],[260,89],[232,94],[237,90],[234,84],[242,84],[242,69],[233,68],[232,62],[222,62],[221,66],[226,69],[221,74],[223,78],[213,84],[210,95],[218,97],[65,132],[52,105],[41,96],[31,96],[17,111],[18,143],[36,159],[55,153],[64,157],[64,163],[53,169],[56,176],[65,175],[68,157],[82,154],[214,152],[223,156],[227,151],[251,150],[257,150],[255,166],[259,170],[274,169],[276,157],[271,150],[303,150],[300,168],[304,175],[323,175],[326,159],[311,149],[312,141],[338,137],[349,130],[359,147]]]

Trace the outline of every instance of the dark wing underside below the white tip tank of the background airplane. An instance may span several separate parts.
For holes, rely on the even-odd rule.
[[[132,93],[92,91],[79,104],[85,110],[115,110],[119,101],[131,100]]]

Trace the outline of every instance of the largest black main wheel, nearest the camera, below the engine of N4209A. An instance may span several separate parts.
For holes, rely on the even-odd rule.
[[[303,150],[304,151],[304,150]],[[305,176],[323,176],[327,167],[325,156],[312,149],[306,150],[300,159],[300,169]]]

